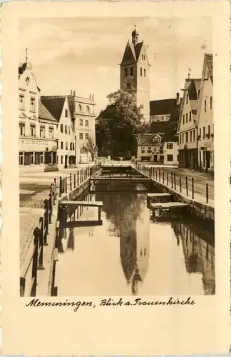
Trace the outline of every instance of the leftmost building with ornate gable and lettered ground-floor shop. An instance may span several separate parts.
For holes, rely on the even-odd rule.
[[[54,164],[56,120],[43,111],[32,66],[19,65],[19,165]]]

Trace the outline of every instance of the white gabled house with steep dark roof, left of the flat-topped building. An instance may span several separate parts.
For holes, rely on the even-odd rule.
[[[41,96],[41,102],[56,119],[58,142],[56,164],[58,168],[67,168],[76,164],[76,136],[71,121],[67,96]]]

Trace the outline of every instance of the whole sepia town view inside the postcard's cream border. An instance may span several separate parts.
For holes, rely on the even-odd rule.
[[[212,21],[19,21],[21,296],[215,294]]]

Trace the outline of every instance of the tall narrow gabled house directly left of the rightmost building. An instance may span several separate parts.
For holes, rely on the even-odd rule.
[[[200,79],[186,79],[178,123],[179,166],[197,169],[197,110]]]

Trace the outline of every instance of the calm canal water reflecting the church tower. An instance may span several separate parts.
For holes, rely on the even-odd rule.
[[[103,222],[63,230],[58,296],[215,293],[213,229],[190,217],[153,219],[145,191],[142,183],[101,183],[78,198],[103,201]],[[98,208],[78,208],[75,216],[97,221]]]

